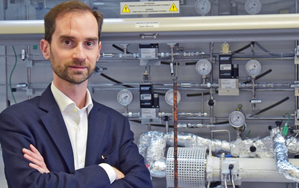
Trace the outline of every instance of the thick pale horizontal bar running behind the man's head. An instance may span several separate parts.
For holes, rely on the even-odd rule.
[[[287,20],[287,21],[286,21]],[[297,14],[260,14],[213,17],[159,17],[159,28],[136,28],[136,22],[153,21],[153,18],[104,19],[102,33],[119,32],[180,32],[180,31],[223,31],[254,29],[296,29],[299,28]],[[43,34],[44,21],[0,21],[0,34]]]

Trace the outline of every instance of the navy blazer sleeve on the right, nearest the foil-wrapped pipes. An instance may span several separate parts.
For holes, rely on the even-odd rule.
[[[130,130],[127,118],[124,118],[121,146],[119,149],[119,170],[124,178],[115,180],[111,187],[144,187],[151,188],[149,170],[144,164],[144,158],[139,154],[138,147],[133,143],[134,134]]]

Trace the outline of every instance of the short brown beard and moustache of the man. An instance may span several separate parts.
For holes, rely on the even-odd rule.
[[[50,62],[53,72],[60,77],[61,79],[68,81],[72,84],[81,84],[91,77],[92,73],[95,71],[95,66],[91,67],[91,64],[88,61],[68,61],[64,62],[62,65],[59,62],[56,62],[54,55],[50,48]],[[69,66],[86,66],[86,71],[68,71]]]

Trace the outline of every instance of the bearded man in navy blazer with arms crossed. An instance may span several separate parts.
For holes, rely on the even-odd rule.
[[[41,51],[51,61],[53,82],[41,96],[0,114],[9,187],[152,187],[128,120],[87,90],[102,22],[77,1],[45,16]]]

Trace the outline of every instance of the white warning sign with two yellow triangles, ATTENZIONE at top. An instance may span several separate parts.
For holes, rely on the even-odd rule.
[[[121,2],[120,14],[180,13],[180,1]]]

